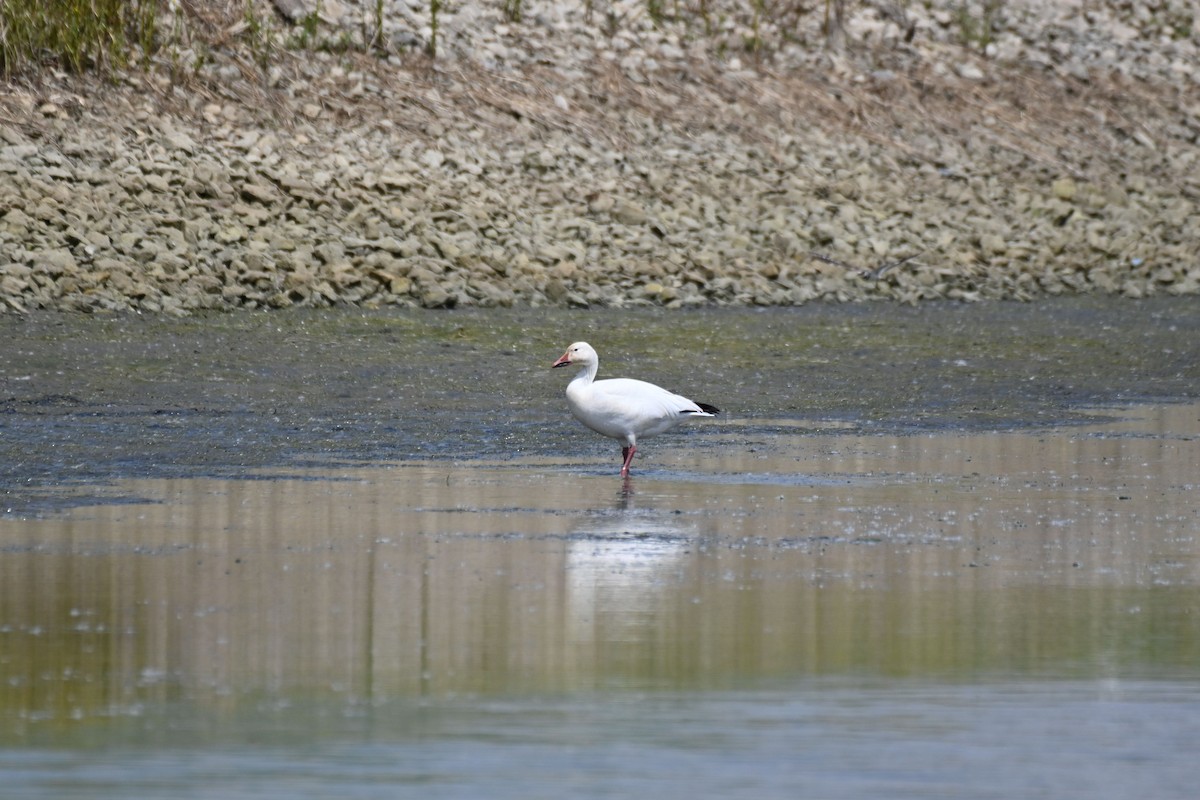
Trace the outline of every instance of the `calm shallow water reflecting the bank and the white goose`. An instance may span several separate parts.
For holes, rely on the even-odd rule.
[[[62,489],[4,796],[1190,798],[1200,405],[1093,413]]]

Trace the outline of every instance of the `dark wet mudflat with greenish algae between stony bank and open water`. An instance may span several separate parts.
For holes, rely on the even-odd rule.
[[[1087,407],[1200,396],[1200,309],[1168,297],[34,313],[0,318],[0,337],[7,515],[91,501],[91,489],[58,489],[121,477],[600,453],[611,443],[569,419],[565,379],[548,369],[578,338],[600,350],[601,375],[721,407],[738,421],[722,446],[751,446],[780,420],[827,433],[1040,427],[1086,419]]]

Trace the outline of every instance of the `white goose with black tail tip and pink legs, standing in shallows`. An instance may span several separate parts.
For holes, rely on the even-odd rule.
[[[566,348],[553,367],[580,367],[578,374],[566,385],[566,404],[576,420],[596,433],[619,439],[625,459],[620,474],[629,475],[629,464],[637,452],[637,439],[670,431],[694,416],[713,416],[720,409],[695,403],[661,386],[631,378],[596,380],[600,356],[587,342]]]

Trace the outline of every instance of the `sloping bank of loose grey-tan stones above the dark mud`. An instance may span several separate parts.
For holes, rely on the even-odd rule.
[[[0,86],[4,311],[1200,293],[1190,2],[196,5]]]

